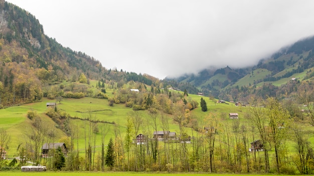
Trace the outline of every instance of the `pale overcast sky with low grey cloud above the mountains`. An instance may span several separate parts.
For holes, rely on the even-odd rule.
[[[7,0],[106,68],[163,79],[257,64],[314,34],[314,0]]]

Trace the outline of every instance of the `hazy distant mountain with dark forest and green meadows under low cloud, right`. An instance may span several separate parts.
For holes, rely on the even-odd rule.
[[[190,83],[209,96],[226,100],[245,101],[250,96],[285,98],[313,79],[313,48],[314,36],[284,47],[252,67],[204,69],[173,80]]]

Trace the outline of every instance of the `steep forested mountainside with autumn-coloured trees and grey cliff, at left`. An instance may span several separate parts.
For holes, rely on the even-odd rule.
[[[63,47],[45,35],[34,15],[5,0],[0,0],[0,62],[1,107],[41,100],[47,95],[45,84],[77,81],[82,73],[87,81],[112,85],[159,82],[146,74],[107,69],[84,52]]]

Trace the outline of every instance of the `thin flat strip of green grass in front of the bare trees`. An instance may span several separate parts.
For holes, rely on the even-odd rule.
[[[222,175],[232,175],[232,176],[265,176],[265,175],[272,175],[275,176],[277,174],[232,174],[232,173],[158,173],[158,172],[62,172],[62,171],[45,171],[45,172],[0,172],[0,176],[2,175],[12,175],[12,176],[27,176],[27,175],[49,175],[49,176],[54,176],[54,175],[84,175],[84,176],[89,176],[89,175],[114,175],[114,176],[129,176],[129,175],[141,175],[141,176],[171,176],[171,175],[176,175],[176,176],[181,176],[181,175],[194,175],[194,176],[204,176],[204,175],[210,175],[210,176],[222,176]],[[280,174],[280,176],[285,176],[284,174]]]

